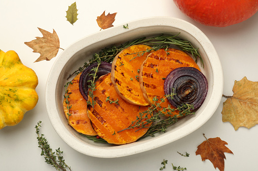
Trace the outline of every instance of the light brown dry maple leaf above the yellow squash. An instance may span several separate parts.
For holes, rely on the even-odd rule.
[[[40,53],[40,57],[35,61],[50,61],[54,58],[59,50],[60,42],[59,38],[53,29],[53,33],[50,33],[46,30],[38,28],[42,33],[43,37],[36,37],[35,40],[31,40],[30,42],[24,42],[27,46],[33,49],[33,52]],[[62,48],[61,48],[62,49]]]

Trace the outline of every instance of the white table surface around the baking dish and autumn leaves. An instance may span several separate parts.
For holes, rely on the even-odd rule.
[[[98,32],[97,16],[103,11],[117,13],[113,25],[120,25],[132,20],[169,16],[186,20],[206,34],[214,45],[224,71],[225,95],[232,95],[234,81],[244,76],[250,81],[258,81],[258,14],[250,19],[225,28],[201,25],[183,15],[172,0],[148,1],[82,1],[77,0],[79,20],[71,25],[66,21],[68,6],[75,1],[10,1],[0,3],[0,49],[15,50],[22,63],[33,69],[39,78],[36,91],[39,102],[34,109],[25,113],[23,120],[14,127],[0,130],[0,170],[55,170],[45,163],[36,140],[35,125],[42,121],[41,133],[45,134],[53,150],[60,147],[66,163],[72,170],[159,170],[163,159],[168,160],[165,170],[175,166],[187,167],[189,171],[215,170],[209,160],[201,161],[195,155],[197,146],[207,138],[220,137],[228,142],[227,147],[234,153],[225,153],[225,170],[257,170],[258,126],[251,129],[244,127],[234,130],[230,123],[222,122],[222,98],[210,120],[192,134],[165,146],[119,158],[96,158],[72,149],[53,129],[45,106],[45,85],[48,74],[57,57],[51,61],[34,63],[39,53],[24,44],[35,37],[42,37],[37,27],[49,32],[53,29],[60,39],[60,47],[65,48],[76,40]],[[188,152],[190,157],[183,157],[178,152]],[[218,170],[218,169],[217,169]]]

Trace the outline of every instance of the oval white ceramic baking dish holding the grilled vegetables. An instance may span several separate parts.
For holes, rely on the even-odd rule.
[[[123,28],[128,24],[129,29]],[[193,116],[188,116],[166,133],[146,137],[126,145],[95,143],[67,125],[62,101],[66,78],[83,66],[94,53],[113,44],[121,44],[140,37],[160,34],[175,35],[189,40],[199,48],[204,61],[201,71],[208,80],[208,94]],[[198,63],[200,66],[200,62]],[[223,71],[218,55],[209,39],[194,25],[176,18],[152,17],[128,22],[84,37],[68,46],[56,59],[46,85],[46,107],[49,119],[58,135],[73,149],[95,157],[121,157],[151,150],[176,141],[201,127],[216,110],[223,92]]]

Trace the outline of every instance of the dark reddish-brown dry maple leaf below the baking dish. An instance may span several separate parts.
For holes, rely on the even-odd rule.
[[[204,136],[204,134],[203,134]],[[205,136],[204,136],[205,137]],[[205,137],[206,138],[206,137]],[[225,145],[228,144],[225,141],[222,141],[219,137],[217,138],[206,138],[206,141],[203,141],[197,148],[195,154],[201,155],[202,161],[208,159],[212,162],[214,168],[216,167],[220,171],[224,171],[225,162],[224,158],[226,159],[225,152],[232,153],[233,152],[226,147]]]

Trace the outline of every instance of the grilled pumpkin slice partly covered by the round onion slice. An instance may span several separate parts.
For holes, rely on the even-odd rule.
[[[164,81],[167,75],[174,69],[179,67],[194,67],[200,71],[195,61],[186,52],[178,49],[168,48],[159,49],[148,55],[147,59],[142,63],[140,68],[140,87],[144,98],[154,104],[153,98],[164,98]],[[160,102],[158,100],[157,102]],[[167,99],[162,102],[161,107],[173,107]],[[162,110],[162,108],[158,108]],[[175,110],[174,115],[178,115],[179,111]]]

